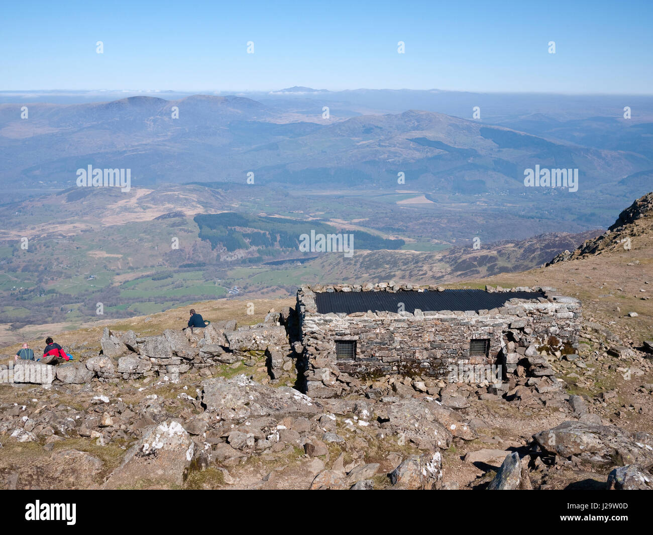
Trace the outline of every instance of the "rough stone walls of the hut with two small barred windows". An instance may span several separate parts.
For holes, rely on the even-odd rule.
[[[424,286],[421,287],[422,289]],[[535,299],[511,299],[501,308],[456,312],[355,312],[319,314],[315,291],[419,290],[417,285],[304,286],[297,306],[308,395],[342,395],[361,380],[387,374],[445,378],[450,366],[504,366],[515,372],[535,345],[546,351],[573,353],[578,345],[582,310],[577,299],[555,294],[552,288],[515,288],[542,291]],[[438,291],[438,287],[430,287]],[[442,289],[439,288],[441,291]],[[510,291],[488,288],[486,291]],[[470,340],[490,340],[487,356],[470,356]],[[355,340],[354,359],[336,359],[336,340]],[[524,363],[528,365],[528,362]],[[534,364],[537,368],[537,363]],[[535,370],[532,370],[535,371]]]

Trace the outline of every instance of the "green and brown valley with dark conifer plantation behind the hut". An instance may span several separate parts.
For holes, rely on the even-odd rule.
[[[409,190],[308,195],[210,182],[129,193],[72,187],[7,203],[0,324],[19,340],[30,325],[76,329],[197,300],[287,297],[304,282],[449,282],[536,267],[596,235],[580,223],[564,225],[572,234],[539,235],[562,226],[557,216],[513,206],[423,201]],[[301,236],[311,232],[351,235],[353,252],[307,250]]]

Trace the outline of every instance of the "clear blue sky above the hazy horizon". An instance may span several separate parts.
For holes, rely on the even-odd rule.
[[[0,17],[2,90],[653,93],[650,0],[27,0]]]

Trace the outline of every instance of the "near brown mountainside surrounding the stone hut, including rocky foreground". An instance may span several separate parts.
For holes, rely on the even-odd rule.
[[[168,376],[103,380],[100,376],[87,384],[53,383],[48,388],[0,385],[0,487],[486,489],[499,484],[498,472],[507,470],[502,466],[507,462],[504,459],[518,452],[526,459],[520,468],[520,489],[603,489],[611,470],[630,464],[632,455],[646,467],[641,470],[653,466],[653,457],[646,451],[639,453],[637,447],[650,444],[653,436],[653,363],[646,353],[650,348],[643,347],[644,340],[653,338],[651,308],[645,299],[653,281],[649,223],[650,194],[624,210],[607,234],[622,233],[624,227],[637,232],[629,250],[611,246],[599,236],[585,243],[607,246],[589,255],[447,285],[539,285],[581,299],[583,328],[577,354],[546,357],[558,381],[562,380],[560,389],[551,390],[545,383],[530,388],[518,385],[501,397],[485,387],[387,376],[368,385],[370,392],[385,392],[385,398],[311,398],[307,405],[308,399],[298,395],[294,401],[285,397],[285,386],[293,384],[293,369],[288,367],[281,379],[271,380],[271,361],[266,361],[264,351],[253,350],[242,361],[232,361],[231,353],[225,354],[224,363],[172,380]],[[548,239],[559,242],[569,237]],[[503,247],[511,250],[517,244]],[[506,257],[518,259],[518,251]],[[361,273],[359,279],[364,277]],[[283,307],[293,303],[293,299],[234,299],[193,306],[215,325],[225,325],[230,319],[243,326],[265,321],[238,331],[245,338],[233,338],[254,340],[262,332],[277,336],[274,333],[281,327],[274,321],[286,317],[289,312]],[[267,314],[268,310],[274,312]],[[279,311],[281,316],[276,316]],[[102,334],[104,327],[114,336],[129,336],[133,331],[136,340],[143,340],[164,329],[178,330],[186,317],[187,307],[174,308],[76,331],[53,328],[49,334],[81,361],[76,366],[83,366],[101,358],[95,357],[101,347],[107,351],[112,347],[108,331]],[[29,338],[37,351],[43,346],[39,336]],[[18,348],[14,344],[3,349],[3,362],[9,363]],[[212,389],[223,396],[217,405]],[[435,397],[437,404],[432,401]],[[146,476],[138,468],[144,461],[139,456],[125,457],[125,452],[141,447],[148,430],[154,429],[148,426],[165,425],[167,430],[174,421],[183,424],[184,431],[179,432],[183,448],[177,451],[174,443],[163,446],[170,451],[163,449],[165,455],[154,465],[163,472],[152,478],[153,465],[147,461],[150,475]],[[50,436],[52,422],[63,422],[64,432]],[[411,431],[410,426],[418,431]],[[445,427],[439,426],[453,431],[445,435],[449,437],[446,445],[436,448],[440,456],[432,457],[433,447],[420,430],[443,432]],[[581,434],[588,440],[584,443],[588,451],[554,455],[542,439],[551,433],[561,447],[571,447],[573,437]],[[193,453],[190,462],[185,452],[193,441],[202,440],[209,444],[206,451],[210,453],[203,456],[204,450],[193,449],[197,455]],[[399,477],[424,455],[431,463],[439,459],[429,465],[438,466],[433,479],[409,483]],[[75,462],[57,471],[50,468],[53,459]]]

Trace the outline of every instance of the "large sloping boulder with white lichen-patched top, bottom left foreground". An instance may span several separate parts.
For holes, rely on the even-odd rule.
[[[193,440],[182,425],[177,421],[164,421],[146,430],[103,486],[118,489],[143,484],[182,485],[194,451]]]

